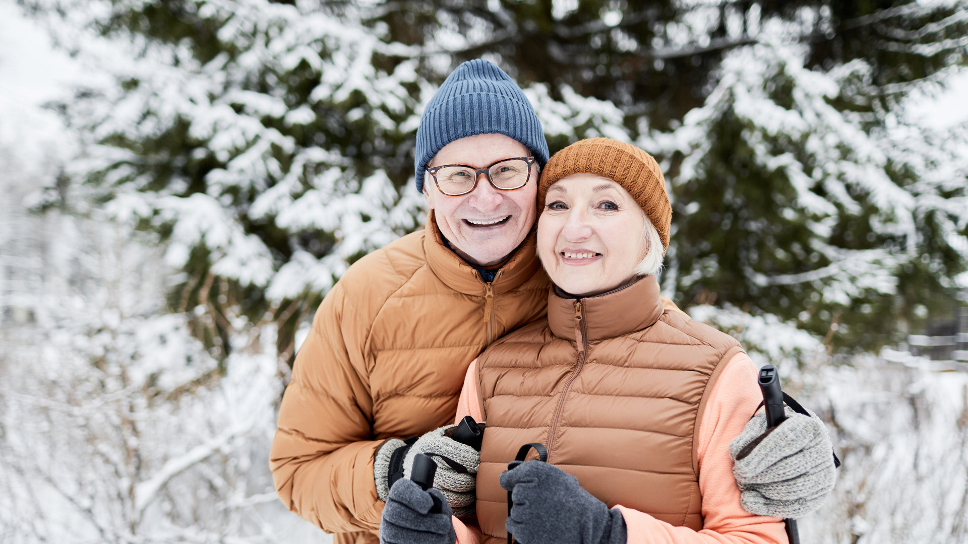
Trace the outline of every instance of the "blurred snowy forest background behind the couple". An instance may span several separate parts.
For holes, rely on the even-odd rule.
[[[804,542],[968,542],[964,0],[0,0],[0,543],[328,541],[275,408],[481,56],[662,162],[666,294],[830,424]]]

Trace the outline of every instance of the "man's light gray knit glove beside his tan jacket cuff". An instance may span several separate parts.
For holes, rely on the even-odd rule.
[[[435,429],[426,435],[418,438],[410,446],[407,456],[404,458],[404,477],[410,477],[410,470],[413,468],[413,458],[418,453],[431,455],[437,463],[437,474],[434,476],[434,487],[447,499],[447,504],[454,511],[457,517],[469,516],[474,513],[474,485],[477,481],[477,468],[481,463],[481,454],[467,444],[449,438],[456,425],[448,425]],[[403,440],[391,438],[380,446],[377,457],[374,459],[374,479],[377,482],[377,495],[380,499],[386,500],[389,495],[390,487],[387,480],[390,471],[390,457],[393,452],[406,444]],[[442,455],[463,467],[465,472],[458,468],[451,467],[446,461],[440,459]]]

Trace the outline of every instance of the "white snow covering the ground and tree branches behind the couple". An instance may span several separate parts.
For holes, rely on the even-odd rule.
[[[199,9],[234,15],[221,32],[244,45],[238,58],[220,55],[199,65],[183,45],[145,47],[143,56],[135,57],[116,43],[78,31],[82,23],[108,13],[106,2],[82,4],[82,10],[69,10],[68,22],[49,23],[63,44],[89,52],[72,58],[51,47],[42,24],[25,18],[12,0],[0,0],[4,538],[325,540],[286,511],[267,468],[275,409],[287,378],[286,360],[277,356],[275,325],[207,304],[172,313],[166,293],[186,281],[179,269],[197,247],[211,252],[213,274],[263,287],[276,303],[324,293],[351,258],[416,227],[423,202],[411,188],[398,191],[382,169],[360,175],[338,150],[299,143],[261,118],[287,127],[312,124],[318,120],[316,106],[362,91],[371,103],[352,112],[349,121],[369,115],[385,131],[412,132],[435,91],[418,76],[420,51],[386,44],[380,39],[385,29],[334,25],[327,15],[297,7],[213,0]],[[566,16],[577,5],[556,1],[555,16]],[[670,29],[671,45],[691,43],[714,19],[710,11],[697,11]],[[766,38],[786,31],[769,20],[750,21],[750,26],[761,22]],[[730,28],[735,34],[739,26],[733,21]],[[830,261],[797,274],[750,269],[751,282],[761,287],[823,282],[822,296],[839,304],[864,291],[892,294],[897,288],[892,270],[920,258],[912,255],[920,243],[915,226],[928,214],[943,218],[944,240],[968,258],[968,240],[958,233],[968,227],[968,200],[945,196],[968,171],[968,153],[949,137],[968,122],[963,100],[968,75],[947,74],[945,88],[914,93],[890,131],[871,134],[862,130],[862,118],[830,106],[832,98],[858,98],[850,96],[851,88],[862,95],[865,65],[807,71],[797,46],[766,38],[727,58],[707,103],[690,112],[680,128],[660,134],[646,126],[637,140],[657,154],[681,151],[686,160],[670,183],[686,183],[705,167],[711,123],[727,109],[748,121],[743,136],[755,159],[785,172],[796,189],[795,202],[781,213],[788,219],[807,217],[817,234],[810,249]],[[440,47],[437,56],[431,51],[426,62],[431,68],[444,66],[449,62],[441,53],[445,46],[479,39],[484,38],[441,33],[433,45]],[[309,44],[337,53],[322,57]],[[373,51],[409,60],[385,74],[370,64]],[[177,69],[172,58],[180,61]],[[290,106],[277,93],[281,86],[268,93],[246,86],[263,67],[285,73],[300,62],[323,75],[308,104]],[[779,75],[796,83],[793,107],[768,96],[765,83]],[[125,94],[111,76],[141,83]],[[78,117],[91,123],[72,132],[43,104],[67,97],[67,87],[78,84],[103,93],[104,100],[85,103]],[[410,96],[410,84],[419,96]],[[545,85],[525,89],[547,134],[633,139],[619,107],[582,97],[567,85],[558,91],[560,102]],[[151,115],[143,115],[146,108]],[[206,177],[206,193],[180,196],[179,183],[185,180],[163,191],[141,191],[150,180],[138,177],[134,168],[108,168],[135,156],[98,145],[99,137],[157,135],[178,117],[190,120],[192,136],[205,141],[199,153],[222,163]],[[802,142],[802,151],[819,167],[807,173],[802,158],[771,148],[783,138]],[[275,150],[287,153],[291,165],[283,166]],[[901,187],[885,175],[888,150],[918,173],[916,183]],[[106,205],[91,203],[86,192],[98,196],[93,189],[73,187],[63,197],[76,203],[76,214],[54,209],[37,215],[26,209],[58,201],[59,173],[105,168],[120,188]],[[817,186],[826,198],[817,196]],[[838,214],[860,208],[852,188],[872,196],[878,208],[873,225],[903,239],[902,248],[847,251],[824,242]],[[251,194],[251,205],[233,207],[236,191]],[[698,211],[691,203],[685,207],[686,214]],[[325,230],[337,242],[323,257],[296,248],[280,262],[242,227],[239,214],[272,221],[287,232]],[[133,230],[142,220],[172,227],[164,245]],[[675,252],[672,248],[670,255]],[[698,281],[714,275],[717,266],[707,259],[693,270],[678,270],[673,262],[663,286]],[[968,287],[968,273],[955,282]],[[832,354],[828,339],[798,329],[793,321],[730,305],[689,311],[735,336],[757,364],[777,365],[785,389],[830,426],[844,465],[833,497],[801,521],[804,542],[963,540],[968,523],[964,363],[939,364],[890,348]],[[206,349],[197,338],[210,334],[217,318],[227,319],[231,334],[227,345]],[[295,349],[309,326],[308,319],[298,323]],[[230,354],[220,359],[224,349]]]

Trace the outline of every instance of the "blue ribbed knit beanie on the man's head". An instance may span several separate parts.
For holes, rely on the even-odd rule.
[[[539,166],[548,162],[541,122],[521,87],[494,64],[469,60],[447,76],[420,118],[413,161],[417,191],[423,191],[427,163],[444,145],[487,134],[514,138],[531,150]]]

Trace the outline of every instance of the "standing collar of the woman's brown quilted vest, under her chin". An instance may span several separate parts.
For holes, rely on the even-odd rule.
[[[655,276],[646,276],[625,287],[577,299],[552,287],[548,293],[548,325],[555,336],[575,341],[575,312],[579,301],[585,313],[589,342],[650,327],[662,317],[664,311]]]

